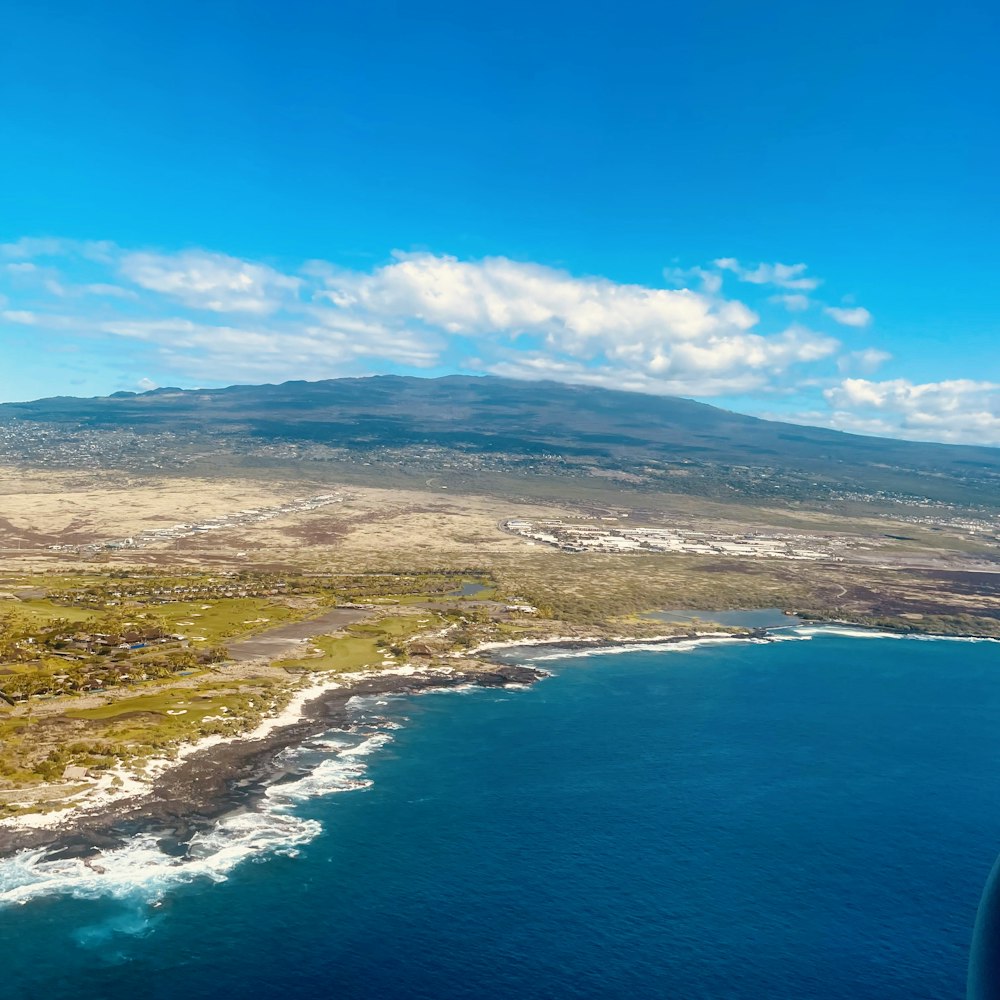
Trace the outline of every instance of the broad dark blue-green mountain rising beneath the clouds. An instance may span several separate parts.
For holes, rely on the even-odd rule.
[[[1000,449],[864,437],[689,399],[494,377],[385,375],[0,406],[0,434],[16,438],[28,428],[56,440],[167,433],[239,442],[235,451],[248,455],[275,443],[351,453],[431,446],[626,470],[652,464],[732,475],[738,467],[751,478],[758,470],[952,500],[992,501],[1000,486]]]

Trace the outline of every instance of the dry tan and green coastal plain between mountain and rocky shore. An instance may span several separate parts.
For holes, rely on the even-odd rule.
[[[806,503],[785,485],[813,473],[769,481],[749,465],[714,466],[738,487],[724,497],[676,485],[709,474],[693,459],[650,458],[623,478],[611,459],[582,455],[504,465],[495,450],[456,459],[430,444],[352,455],[243,465],[242,478],[11,472],[0,810],[62,808],[199,739],[251,732],[296,692],[488,672],[495,665],[476,666],[483,644],[683,634],[717,627],[713,611],[754,608],[1000,635],[1000,515],[980,500],[841,484]],[[345,469],[363,485],[329,482]],[[333,489],[336,503],[296,499]],[[284,513],[255,520],[255,510]],[[815,540],[806,548],[818,555],[573,551],[506,530],[512,520],[626,540],[624,525],[689,539],[707,528],[716,541],[794,536]],[[226,527],[157,534],[177,522]],[[129,537],[161,540],[137,548]],[[670,609],[700,609],[704,621],[649,614]]]

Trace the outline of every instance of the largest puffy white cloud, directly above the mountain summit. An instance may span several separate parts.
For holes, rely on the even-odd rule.
[[[753,310],[707,292],[579,278],[502,257],[398,254],[370,273],[331,271],[325,280],[326,299],[338,309],[479,341],[526,340],[522,350],[547,358],[550,371],[591,379],[591,365],[615,372],[619,384],[624,377],[683,378],[696,386],[701,377],[707,394],[720,378],[775,375],[839,346],[800,327],[777,336],[753,332]]]

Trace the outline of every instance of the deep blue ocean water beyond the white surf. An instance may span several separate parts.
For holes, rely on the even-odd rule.
[[[964,996],[1000,851],[1000,645],[561,659],[402,721],[222,882],[0,908],[5,998]],[[149,900],[159,896],[157,905]]]

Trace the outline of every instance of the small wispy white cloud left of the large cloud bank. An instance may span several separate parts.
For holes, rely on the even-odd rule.
[[[294,298],[302,285],[301,278],[265,264],[204,250],[127,253],[119,270],[142,288],[211,312],[273,313]]]

